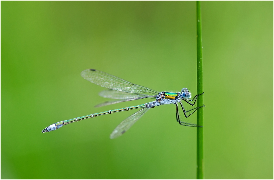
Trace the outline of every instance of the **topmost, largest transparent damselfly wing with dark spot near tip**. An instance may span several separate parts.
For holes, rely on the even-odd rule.
[[[115,91],[122,91],[127,93],[159,93],[158,91],[154,91],[152,89],[137,84],[132,84],[131,82],[128,82],[124,79],[112,76],[108,73],[104,73],[95,69],[86,69],[81,72],[81,76],[94,84]]]

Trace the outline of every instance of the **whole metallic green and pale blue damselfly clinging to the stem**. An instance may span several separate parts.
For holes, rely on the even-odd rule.
[[[204,93],[198,94],[193,99],[191,99],[191,93],[189,92],[189,90],[187,88],[183,88],[182,91],[178,92],[178,93],[165,92],[165,91],[158,92],[158,91],[149,89],[144,86],[132,84],[124,79],[118,78],[116,76],[112,76],[108,73],[104,73],[102,71],[98,71],[95,69],[86,69],[81,72],[81,76],[94,84],[97,84],[99,86],[109,89],[109,90],[101,91],[99,93],[100,96],[105,97],[105,98],[111,98],[111,99],[119,99],[116,101],[104,102],[102,104],[97,105],[97,107],[105,106],[105,105],[109,105],[109,104],[116,104],[119,102],[144,99],[144,98],[153,98],[155,100],[152,102],[138,105],[138,106],[114,109],[114,110],[109,110],[109,111],[105,111],[105,112],[90,114],[87,116],[77,117],[77,118],[73,118],[70,120],[56,122],[56,123],[46,127],[44,130],[42,130],[42,132],[50,132],[50,131],[59,129],[60,127],[66,125],[66,124],[69,124],[72,122],[77,122],[77,121],[84,120],[84,119],[88,119],[91,117],[96,117],[96,116],[100,116],[100,115],[104,115],[104,114],[111,114],[111,113],[120,112],[120,111],[129,111],[131,109],[142,108],[141,110],[139,110],[139,111],[135,112],[134,114],[132,114],[131,116],[127,117],[124,121],[122,121],[114,129],[114,131],[110,135],[110,138],[113,139],[113,138],[117,138],[120,135],[124,134],[149,109],[151,109],[155,106],[163,105],[163,104],[175,104],[176,105],[176,119],[180,125],[201,127],[196,124],[182,122],[180,120],[179,111],[178,111],[178,103],[180,103],[185,117],[189,117],[198,108],[204,107],[204,105],[201,107],[192,108],[190,110],[185,110],[181,100],[187,102],[191,106],[194,106],[197,97]],[[143,93],[146,93],[146,94],[143,94]],[[147,95],[147,94],[153,94],[153,95]]]

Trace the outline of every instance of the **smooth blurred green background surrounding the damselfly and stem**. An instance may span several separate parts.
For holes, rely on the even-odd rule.
[[[273,179],[273,1],[201,5],[205,178]],[[196,2],[1,1],[1,179],[195,179],[196,128],[175,105],[114,140],[134,110],[41,133],[147,102],[94,108],[88,68],[196,94]]]

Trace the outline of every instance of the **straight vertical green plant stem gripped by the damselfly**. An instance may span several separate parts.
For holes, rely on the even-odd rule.
[[[197,94],[204,91],[203,88],[203,54],[202,54],[202,24],[201,1],[196,2],[197,13]],[[204,104],[204,95],[198,96],[197,107]],[[197,125],[204,126],[204,108],[197,110]],[[204,179],[204,127],[197,128],[197,179]]]

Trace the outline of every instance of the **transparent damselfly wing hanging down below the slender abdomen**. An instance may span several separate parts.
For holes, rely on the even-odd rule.
[[[117,138],[124,134],[137,120],[140,119],[148,110],[150,107],[141,109],[140,111],[135,112],[125,120],[123,120],[111,133],[110,139]]]

